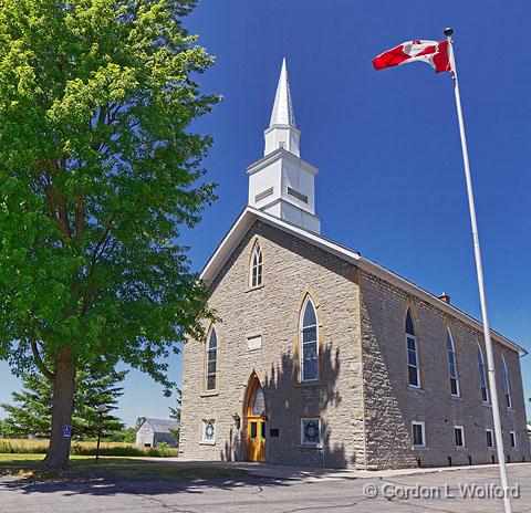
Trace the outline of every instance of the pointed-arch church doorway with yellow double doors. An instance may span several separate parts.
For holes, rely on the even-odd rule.
[[[247,400],[247,459],[266,461],[266,401],[257,376],[251,380]]]

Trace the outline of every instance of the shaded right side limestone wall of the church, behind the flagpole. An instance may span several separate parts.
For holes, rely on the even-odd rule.
[[[374,275],[362,273],[360,283],[367,467],[399,468],[415,465],[417,460],[421,465],[448,465],[449,458],[454,465],[496,460],[496,450],[487,448],[486,440],[486,429],[492,428],[491,406],[483,404],[479,386],[477,343],[482,334]],[[408,386],[404,327],[408,306],[418,336],[421,389]],[[449,388],[448,326],[457,353],[458,398]],[[509,367],[513,401],[511,409],[502,408],[506,453],[511,461],[529,461],[519,356],[494,344],[500,400],[501,353]],[[413,420],[425,422],[426,448],[413,448]],[[456,449],[454,426],[465,428],[464,449]],[[517,432],[514,449],[510,447],[511,430]]]

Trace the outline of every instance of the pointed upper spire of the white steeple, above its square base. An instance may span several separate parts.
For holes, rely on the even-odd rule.
[[[290,83],[288,81],[288,67],[284,57],[282,69],[280,70],[279,84],[277,85],[277,94],[274,95],[269,128],[264,132],[266,149],[263,155],[269,155],[279,148],[284,148],[299,157],[300,136],[301,133],[295,126],[295,115],[293,114]]]

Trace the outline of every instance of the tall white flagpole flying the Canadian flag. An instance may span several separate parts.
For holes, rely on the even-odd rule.
[[[448,55],[450,59],[451,72],[454,75],[454,92],[456,94],[457,117],[459,119],[459,134],[461,136],[462,163],[465,165],[465,177],[467,180],[468,206],[470,209],[470,222],[472,226],[473,252],[476,256],[476,272],[478,275],[479,301],[481,303],[481,315],[483,321],[485,345],[487,348],[487,369],[489,376],[490,398],[492,401],[492,419],[494,421],[494,439],[500,468],[500,481],[503,489],[503,505],[506,513],[511,513],[511,501],[507,481],[506,454],[503,450],[503,436],[501,433],[500,409],[498,405],[498,391],[496,387],[494,358],[492,354],[492,341],[490,339],[489,315],[487,312],[487,300],[485,297],[483,268],[481,264],[481,251],[479,249],[478,223],[476,221],[476,207],[473,205],[472,179],[470,177],[470,164],[468,160],[467,138],[465,135],[465,123],[462,121],[461,97],[459,94],[459,81],[457,78],[456,59],[451,34],[454,30],[448,28],[445,35],[448,40]]]

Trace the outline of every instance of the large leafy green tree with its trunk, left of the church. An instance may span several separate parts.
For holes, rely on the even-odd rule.
[[[195,3],[0,2],[0,358],[53,383],[45,468],[67,465],[76,369],[123,360],[169,392],[165,357],[202,336],[179,244],[214,199]]]

